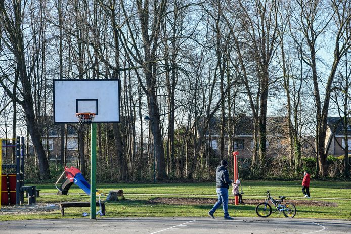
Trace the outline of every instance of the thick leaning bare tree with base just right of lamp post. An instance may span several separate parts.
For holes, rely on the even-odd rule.
[[[144,85],[144,81],[139,77],[138,80],[148,101],[151,131],[155,146],[154,152],[157,157],[157,177],[162,179],[166,177],[166,174],[164,149],[160,131],[159,105],[156,96],[158,61],[156,52],[160,45],[160,28],[162,22],[165,20],[167,1],[154,0],[153,2],[144,1],[144,3],[142,1],[136,1],[135,7],[138,17],[133,17],[134,9],[129,9],[132,11],[128,13],[123,2],[121,2],[121,7],[125,17],[125,23],[131,36],[130,40],[127,41],[125,35],[121,34],[121,39],[123,39],[125,50],[133,56],[144,72],[146,85]],[[133,28],[137,26],[134,20],[138,20],[138,30],[141,31],[141,35],[137,35],[137,37],[133,36]],[[141,36],[140,41],[138,40],[139,36]],[[141,42],[141,48],[139,48],[139,42]]]

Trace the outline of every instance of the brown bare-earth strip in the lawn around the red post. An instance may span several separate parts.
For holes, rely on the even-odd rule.
[[[243,199],[245,204],[257,205],[263,202],[262,199]],[[171,205],[214,205],[217,202],[215,198],[154,198],[149,200],[151,204],[171,204]],[[324,202],[314,200],[286,200],[285,202],[292,202],[296,206],[332,206],[337,207],[335,202]],[[229,204],[234,204],[234,199],[229,200]]]

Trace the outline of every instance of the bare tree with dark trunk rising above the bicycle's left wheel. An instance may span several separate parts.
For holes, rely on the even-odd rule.
[[[229,8],[232,18],[237,18],[240,28],[229,25],[238,53],[243,83],[247,89],[251,112],[255,119],[255,132],[259,138],[259,164],[266,164],[266,120],[269,86],[275,82],[270,65],[278,46],[278,13],[280,1],[238,1],[237,8]],[[240,12],[240,14],[237,14]],[[227,17],[226,17],[227,18]],[[228,20],[228,18],[227,18]],[[246,48],[246,50],[245,50]],[[245,54],[251,63],[245,63]],[[254,67],[254,69],[252,69]],[[255,72],[256,80],[250,80],[249,71]],[[252,85],[253,84],[253,85]],[[254,95],[256,93],[256,96]],[[255,163],[255,157],[253,160]]]

